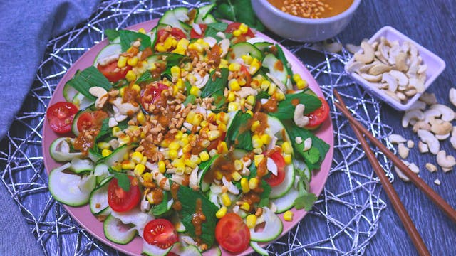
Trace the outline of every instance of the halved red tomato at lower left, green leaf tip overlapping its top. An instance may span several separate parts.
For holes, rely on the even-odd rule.
[[[141,191],[138,187],[138,181],[133,181],[132,176],[130,178],[130,190],[124,191],[118,185],[117,178],[113,178],[109,182],[108,186],[108,203],[109,206],[116,212],[122,213],[138,206],[141,200]]]

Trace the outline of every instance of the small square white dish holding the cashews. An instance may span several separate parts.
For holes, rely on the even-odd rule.
[[[413,41],[412,39],[408,38],[405,36],[403,33],[400,33],[397,31],[395,28],[392,28],[390,26],[384,26],[383,28],[380,28],[380,30],[375,33],[369,39],[368,43],[373,43],[375,41],[380,42],[380,38],[385,37],[388,39],[388,41],[399,41],[400,44],[402,44],[405,41],[410,41],[413,44],[415,44],[416,48],[418,48],[418,52],[423,58],[423,64],[427,65],[427,70],[426,70],[426,82],[425,82],[425,90],[434,82],[434,80],[445,70],[445,61],[443,61],[439,56],[435,55],[434,53],[430,52],[430,50],[427,50],[423,46],[420,46],[418,43]],[[360,53],[362,50],[360,50]],[[353,78],[356,82],[358,82],[359,85],[364,87],[365,90],[368,92],[371,92],[371,94],[377,96],[380,98],[380,100],[383,100],[383,102],[388,103],[391,107],[394,107],[396,110],[400,111],[405,111],[410,109],[410,107],[415,103],[420,96],[422,95],[421,93],[417,93],[414,95],[412,98],[408,100],[405,104],[398,102],[397,100],[394,100],[392,97],[388,96],[383,90],[378,89],[373,83],[368,82],[364,78],[361,78],[361,75],[358,75],[357,73],[350,73],[347,71],[348,66],[353,63],[354,58],[352,57],[348,63],[345,65],[345,71],[348,73],[348,75]]]

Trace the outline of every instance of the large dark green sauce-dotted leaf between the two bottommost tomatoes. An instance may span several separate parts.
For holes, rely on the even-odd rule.
[[[192,224],[192,215],[195,213],[197,201],[201,200],[201,209],[202,213],[206,216],[206,220],[201,224],[202,234],[200,238],[208,247],[211,247],[215,239],[215,225],[217,224],[215,213],[218,210],[217,206],[214,206],[214,203],[209,201],[201,193],[186,186],[180,186],[177,191],[177,198],[179,198],[180,202],[183,202],[182,210],[179,212],[182,218],[182,224],[184,224],[187,233],[192,237],[195,237],[195,226]]]

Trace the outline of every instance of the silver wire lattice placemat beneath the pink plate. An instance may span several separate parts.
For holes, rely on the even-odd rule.
[[[83,53],[104,39],[104,28],[125,28],[159,18],[167,9],[201,4],[204,3],[103,1],[88,21],[49,41],[33,87],[0,146],[1,181],[20,206],[46,255],[121,255],[81,229],[48,192],[41,129],[59,80]],[[335,147],[328,182],[313,210],[266,249],[274,255],[362,255],[377,232],[380,213],[386,205],[380,198],[378,178],[358,139],[341,113],[334,111],[333,88],[341,92],[356,119],[385,143],[391,128],[383,124],[378,102],[343,73],[343,65],[350,58],[345,49],[328,53],[318,45],[276,39],[305,63],[321,85],[331,107]],[[393,180],[391,164],[381,152],[375,154]]]

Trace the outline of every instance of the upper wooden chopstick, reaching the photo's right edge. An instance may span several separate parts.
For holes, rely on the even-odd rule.
[[[412,181],[412,183],[415,184],[415,186],[420,188],[420,190],[423,191],[425,195],[428,198],[430,198],[430,200],[440,208],[440,210],[446,213],[450,220],[456,223],[456,210],[453,209],[441,196],[439,196],[437,192],[432,190],[432,188],[430,188],[430,186],[428,186],[420,177],[418,177],[417,174],[410,170],[408,166],[406,166],[403,163],[403,161],[401,161],[398,158],[398,156],[395,156],[393,152],[391,152],[388,148],[386,148],[385,145],[383,145],[383,143],[381,143],[377,138],[375,138],[373,134],[371,134],[371,132],[369,132],[366,129],[366,127],[363,127],[362,124],[356,121],[356,119],[350,114],[350,112],[346,108],[346,105],[344,104],[341,95],[338,94],[336,89],[334,89],[334,95],[336,95],[340,103],[339,105],[337,102],[334,102],[334,105],[336,105],[338,110],[340,110],[345,115],[345,117],[350,121],[350,123],[353,124],[353,126],[355,126],[356,129],[362,132],[375,146],[377,146],[378,149],[380,149],[380,151],[382,151],[383,154],[385,154],[385,156],[388,157],[388,159],[393,161],[393,164],[397,166],[400,169],[400,171],[403,171],[405,176],[408,176],[408,178],[410,178],[410,181]]]

